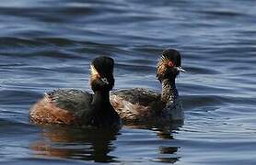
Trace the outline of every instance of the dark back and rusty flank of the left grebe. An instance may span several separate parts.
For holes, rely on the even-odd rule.
[[[91,93],[54,90],[32,106],[30,119],[38,124],[80,125],[83,114],[91,108],[91,101]]]

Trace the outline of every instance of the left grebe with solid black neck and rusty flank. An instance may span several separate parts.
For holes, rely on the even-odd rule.
[[[114,85],[114,60],[99,57],[90,65],[92,93],[80,90],[54,90],[30,109],[30,120],[36,124],[75,126],[120,126],[120,117],[110,103]]]

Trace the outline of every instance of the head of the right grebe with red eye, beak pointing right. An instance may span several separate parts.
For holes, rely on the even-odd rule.
[[[165,49],[157,63],[157,79],[159,81],[175,79],[180,71],[185,71],[180,65],[180,52],[175,49]]]

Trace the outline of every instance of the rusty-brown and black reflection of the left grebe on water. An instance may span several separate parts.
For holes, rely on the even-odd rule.
[[[114,162],[115,157],[109,153],[115,148],[112,141],[117,135],[118,130],[110,129],[47,127],[43,129],[42,139],[30,148],[41,156]]]

